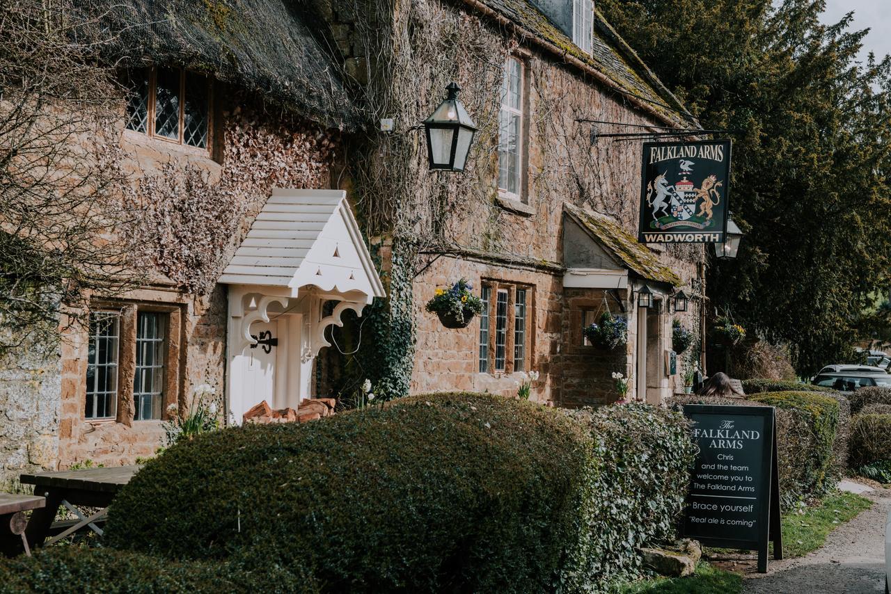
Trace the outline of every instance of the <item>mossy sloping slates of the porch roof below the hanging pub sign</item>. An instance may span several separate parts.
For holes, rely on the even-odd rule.
[[[679,287],[683,284],[681,278],[658,260],[658,256],[650,251],[640,241],[626,232],[621,225],[600,214],[588,213],[583,209],[570,205],[563,205],[564,212],[576,220],[587,232],[590,232],[593,240],[596,240],[609,254],[616,258],[617,263],[622,264],[628,270],[648,281],[665,282]]]

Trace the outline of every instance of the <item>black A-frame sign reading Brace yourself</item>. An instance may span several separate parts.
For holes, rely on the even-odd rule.
[[[684,536],[705,545],[782,558],[780,476],[772,406],[686,404],[699,445],[683,516]]]

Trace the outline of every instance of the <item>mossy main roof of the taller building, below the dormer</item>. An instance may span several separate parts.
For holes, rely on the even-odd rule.
[[[527,0],[479,0],[520,28],[545,42],[555,45],[561,52],[583,61],[609,77],[624,94],[630,94],[647,102],[653,110],[665,118],[685,125],[695,124],[695,119],[674,94],[659,81],[634,50],[625,43],[601,12],[594,10],[593,50],[588,55],[553,24],[535,4]],[[696,124],[698,126],[698,124]]]

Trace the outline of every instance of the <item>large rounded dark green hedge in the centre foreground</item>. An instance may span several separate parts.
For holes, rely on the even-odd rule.
[[[589,566],[594,440],[535,403],[412,397],[233,427],[150,460],[106,539],[174,559],[303,567],[325,591],[546,591]]]

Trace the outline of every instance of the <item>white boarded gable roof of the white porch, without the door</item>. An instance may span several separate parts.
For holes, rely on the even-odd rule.
[[[367,303],[384,287],[341,190],[275,189],[219,282],[285,289],[361,293]]]

